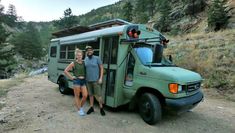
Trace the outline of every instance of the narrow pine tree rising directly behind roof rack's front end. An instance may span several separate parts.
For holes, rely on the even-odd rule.
[[[132,21],[133,19],[133,6],[131,2],[126,2],[125,5],[123,6],[123,16],[125,19],[129,22]]]

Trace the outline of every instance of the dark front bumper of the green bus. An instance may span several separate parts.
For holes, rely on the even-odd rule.
[[[194,108],[199,102],[203,100],[203,93],[199,91],[198,93],[184,98],[179,99],[166,99],[166,109],[174,113],[186,112]]]

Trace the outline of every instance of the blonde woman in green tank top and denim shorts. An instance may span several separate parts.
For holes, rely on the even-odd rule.
[[[81,50],[75,50],[76,60],[71,62],[64,70],[65,75],[73,80],[73,91],[75,98],[75,105],[78,109],[78,113],[80,116],[85,115],[83,111],[83,105],[86,102],[87,98],[87,88],[86,88],[86,79],[85,79],[85,65],[82,61],[83,53]],[[69,71],[73,71],[73,76],[69,73]],[[80,92],[82,92],[82,100],[80,101]]]

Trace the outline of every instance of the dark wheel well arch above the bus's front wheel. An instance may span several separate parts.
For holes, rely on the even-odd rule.
[[[156,89],[153,89],[153,88],[149,88],[149,87],[142,87],[142,88],[139,88],[138,91],[136,92],[135,94],[135,101],[138,102],[138,98],[141,97],[142,94],[144,93],[151,93],[153,95],[155,95],[158,100],[160,101],[161,105],[164,106],[165,105],[165,97],[161,94],[161,92],[159,92],[158,90]]]

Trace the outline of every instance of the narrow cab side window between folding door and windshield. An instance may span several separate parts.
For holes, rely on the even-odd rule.
[[[128,62],[127,62],[127,70],[125,74],[125,85],[132,86],[133,85],[133,74],[135,67],[135,58],[132,54],[129,54]]]

